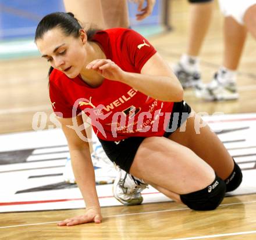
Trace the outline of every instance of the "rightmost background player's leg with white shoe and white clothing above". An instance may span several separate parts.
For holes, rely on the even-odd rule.
[[[239,97],[236,85],[237,68],[247,32],[256,39],[256,0],[219,0],[219,6],[225,16],[223,63],[211,83],[197,92],[205,100],[235,100]]]

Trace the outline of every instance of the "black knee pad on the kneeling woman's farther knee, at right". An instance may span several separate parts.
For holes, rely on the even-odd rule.
[[[226,183],[226,192],[234,191],[238,188],[243,180],[243,173],[239,167],[239,165],[234,162],[234,169],[232,173],[225,180]]]

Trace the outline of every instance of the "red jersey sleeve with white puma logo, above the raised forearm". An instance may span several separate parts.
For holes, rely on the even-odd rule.
[[[157,50],[138,32],[129,30],[123,38],[123,46],[127,51],[130,63],[140,72],[144,64],[152,57]]]

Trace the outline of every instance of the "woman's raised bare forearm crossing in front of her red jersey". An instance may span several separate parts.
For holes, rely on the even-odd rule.
[[[120,82],[161,101],[182,101],[183,89],[175,75],[171,77],[125,72]]]

